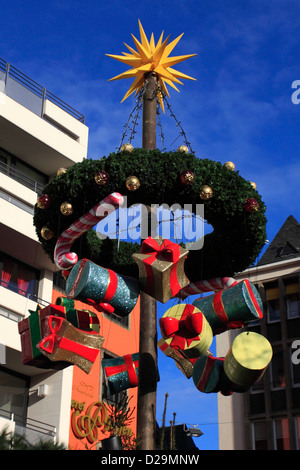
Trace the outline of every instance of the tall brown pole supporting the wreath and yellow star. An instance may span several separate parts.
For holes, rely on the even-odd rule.
[[[146,77],[143,102],[143,143],[156,148],[156,75]],[[148,227],[149,229],[149,227]],[[137,406],[137,449],[155,450],[157,387],[156,300],[141,291],[140,296],[139,388]]]

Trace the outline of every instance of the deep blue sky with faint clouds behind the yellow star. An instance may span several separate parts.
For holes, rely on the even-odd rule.
[[[115,151],[134,98],[120,104],[130,80],[108,82],[126,70],[106,53],[147,36],[183,38],[172,55],[197,56],[178,70],[195,77],[170,104],[200,158],[231,160],[255,181],[267,206],[267,238],[289,215],[300,221],[300,4],[297,0],[11,0],[1,5],[0,56],[86,116],[90,158]],[[299,95],[300,96],[300,95]],[[167,150],[182,142],[166,112]],[[133,144],[141,146],[139,135]],[[159,141],[158,141],[159,146]],[[161,306],[159,306],[161,313]],[[169,393],[167,420],[199,424],[201,449],[217,449],[216,397],[198,392],[171,360],[159,355],[157,417]]]

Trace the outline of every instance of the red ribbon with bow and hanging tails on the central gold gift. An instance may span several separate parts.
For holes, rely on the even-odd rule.
[[[154,283],[154,275],[151,265],[157,259],[174,263],[170,272],[170,288],[172,295],[175,296],[181,289],[181,285],[177,279],[177,266],[176,263],[180,259],[180,247],[170,240],[164,240],[161,245],[152,237],[146,238],[142,243],[141,253],[150,255],[149,258],[144,259],[147,279],[150,285]]]

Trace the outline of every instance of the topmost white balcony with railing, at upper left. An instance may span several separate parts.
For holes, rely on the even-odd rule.
[[[1,147],[52,176],[87,156],[84,116],[0,58]]]

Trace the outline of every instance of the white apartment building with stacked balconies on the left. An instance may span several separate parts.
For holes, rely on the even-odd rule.
[[[0,431],[68,443],[72,367],[25,366],[18,322],[51,303],[55,265],[33,208],[61,167],[87,156],[84,117],[0,59]]]

